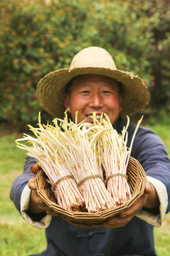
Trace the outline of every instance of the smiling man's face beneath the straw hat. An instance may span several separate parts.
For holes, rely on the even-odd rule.
[[[64,97],[64,105],[72,114],[78,111],[78,122],[86,119],[93,123],[93,112],[100,119],[101,113],[106,113],[114,124],[122,110],[123,99],[119,94],[115,80],[103,75],[79,75],[74,78],[69,95]]]

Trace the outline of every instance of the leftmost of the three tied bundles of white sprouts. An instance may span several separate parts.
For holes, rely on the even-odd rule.
[[[67,210],[81,210],[81,207],[84,208],[84,198],[77,188],[74,178],[67,178],[71,174],[64,163],[65,159],[62,157],[62,147],[66,145],[62,142],[59,143],[57,140],[57,137],[59,137],[57,132],[60,132],[60,129],[57,131],[49,124],[45,128],[42,127],[40,117],[39,127],[35,129],[30,126],[37,139],[24,134],[23,139],[16,140],[18,147],[27,150],[28,156],[38,159],[38,165],[49,178],[60,206],[67,208]],[[20,141],[24,140],[30,142],[33,146],[21,144]],[[65,151],[67,154],[69,153],[66,148]],[[63,177],[66,178],[57,183]]]

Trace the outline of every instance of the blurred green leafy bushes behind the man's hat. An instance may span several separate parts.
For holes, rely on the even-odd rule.
[[[40,78],[88,46],[145,80],[148,116],[170,112],[170,1],[1,0],[0,12],[0,121],[36,122]]]

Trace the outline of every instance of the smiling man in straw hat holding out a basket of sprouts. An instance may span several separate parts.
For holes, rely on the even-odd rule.
[[[70,68],[56,70],[38,83],[42,107],[55,117],[68,109],[74,120],[93,122],[106,113],[121,132],[125,115],[140,112],[149,102],[145,83],[130,73],[116,69],[103,48],[89,47],[74,56]],[[128,145],[135,127],[128,128]],[[11,188],[11,199],[28,223],[46,228],[47,250],[39,255],[157,255],[153,226],[162,224],[170,206],[170,161],[161,139],[152,130],[140,127],[131,156],[140,161],[147,174],[144,195],[102,227],[82,228],[67,223],[48,208],[36,192],[33,173],[36,160],[27,157],[24,171]],[[32,172],[30,171],[32,170]]]

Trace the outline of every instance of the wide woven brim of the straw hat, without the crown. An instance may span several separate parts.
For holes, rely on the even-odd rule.
[[[67,83],[78,75],[95,74],[114,78],[123,84],[123,110],[120,115],[132,116],[142,111],[150,100],[149,90],[145,82],[138,76],[122,70],[109,68],[63,68],[55,70],[38,82],[38,99],[42,108],[58,118],[64,117],[64,92]]]

